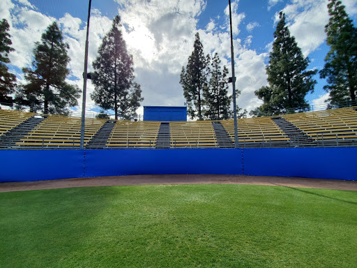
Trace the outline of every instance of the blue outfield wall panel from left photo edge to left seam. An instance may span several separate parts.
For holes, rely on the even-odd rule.
[[[1,150],[0,181],[83,177],[84,150]]]

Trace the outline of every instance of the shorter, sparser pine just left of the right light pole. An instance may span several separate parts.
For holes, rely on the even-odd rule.
[[[211,62],[211,78],[208,87],[204,90],[204,116],[208,119],[229,118],[231,96],[228,96],[227,74],[228,69],[220,66],[220,57],[215,53]]]

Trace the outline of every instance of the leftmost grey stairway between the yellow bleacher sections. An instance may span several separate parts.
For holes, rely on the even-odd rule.
[[[15,128],[10,131],[3,133],[3,135],[0,136],[0,149],[18,149],[19,147],[15,146],[15,143],[19,142],[24,135],[29,133],[43,120],[45,120],[44,117],[33,116],[15,126]]]

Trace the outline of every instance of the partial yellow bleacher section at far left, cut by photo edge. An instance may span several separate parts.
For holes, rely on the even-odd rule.
[[[21,112],[0,109],[0,135],[15,128],[34,114],[31,112]]]

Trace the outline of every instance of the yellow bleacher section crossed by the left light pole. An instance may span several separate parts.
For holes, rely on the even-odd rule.
[[[45,119],[24,135],[16,145],[20,147],[79,147],[81,119],[59,115],[45,115]],[[106,119],[86,119],[84,146],[97,133]]]

